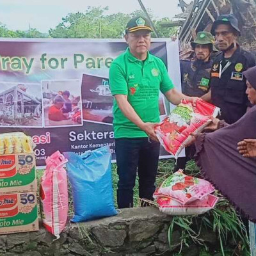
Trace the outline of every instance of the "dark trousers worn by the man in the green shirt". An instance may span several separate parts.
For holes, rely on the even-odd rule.
[[[117,204],[120,209],[133,207],[133,188],[139,176],[139,196],[152,200],[156,189],[156,174],[160,144],[149,138],[115,140],[117,173],[119,176]]]

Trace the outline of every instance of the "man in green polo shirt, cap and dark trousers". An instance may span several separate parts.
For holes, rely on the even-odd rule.
[[[159,158],[159,142],[154,132],[160,121],[159,92],[175,105],[182,99],[196,99],[178,92],[163,61],[148,52],[151,31],[150,22],[144,17],[129,20],[125,30],[129,47],[109,70],[110,89],[115,97],[113,127],[119,208],[133,206],[137,169],[139,196],[152,200]]]

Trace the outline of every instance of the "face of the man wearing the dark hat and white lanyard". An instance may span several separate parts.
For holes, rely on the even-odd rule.
[[[225,51],[236,42],[236,35],[230,25],[220,24],[215,29],[215,40],[218,49]]]

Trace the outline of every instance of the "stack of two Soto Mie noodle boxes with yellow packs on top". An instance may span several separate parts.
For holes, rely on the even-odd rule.
[[[0,234],[38,230],[35,172],[31,138],[0,134]]]

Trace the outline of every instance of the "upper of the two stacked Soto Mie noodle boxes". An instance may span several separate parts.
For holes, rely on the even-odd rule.
[[[35,154],[0,155],[0,195],[36,191]]]

